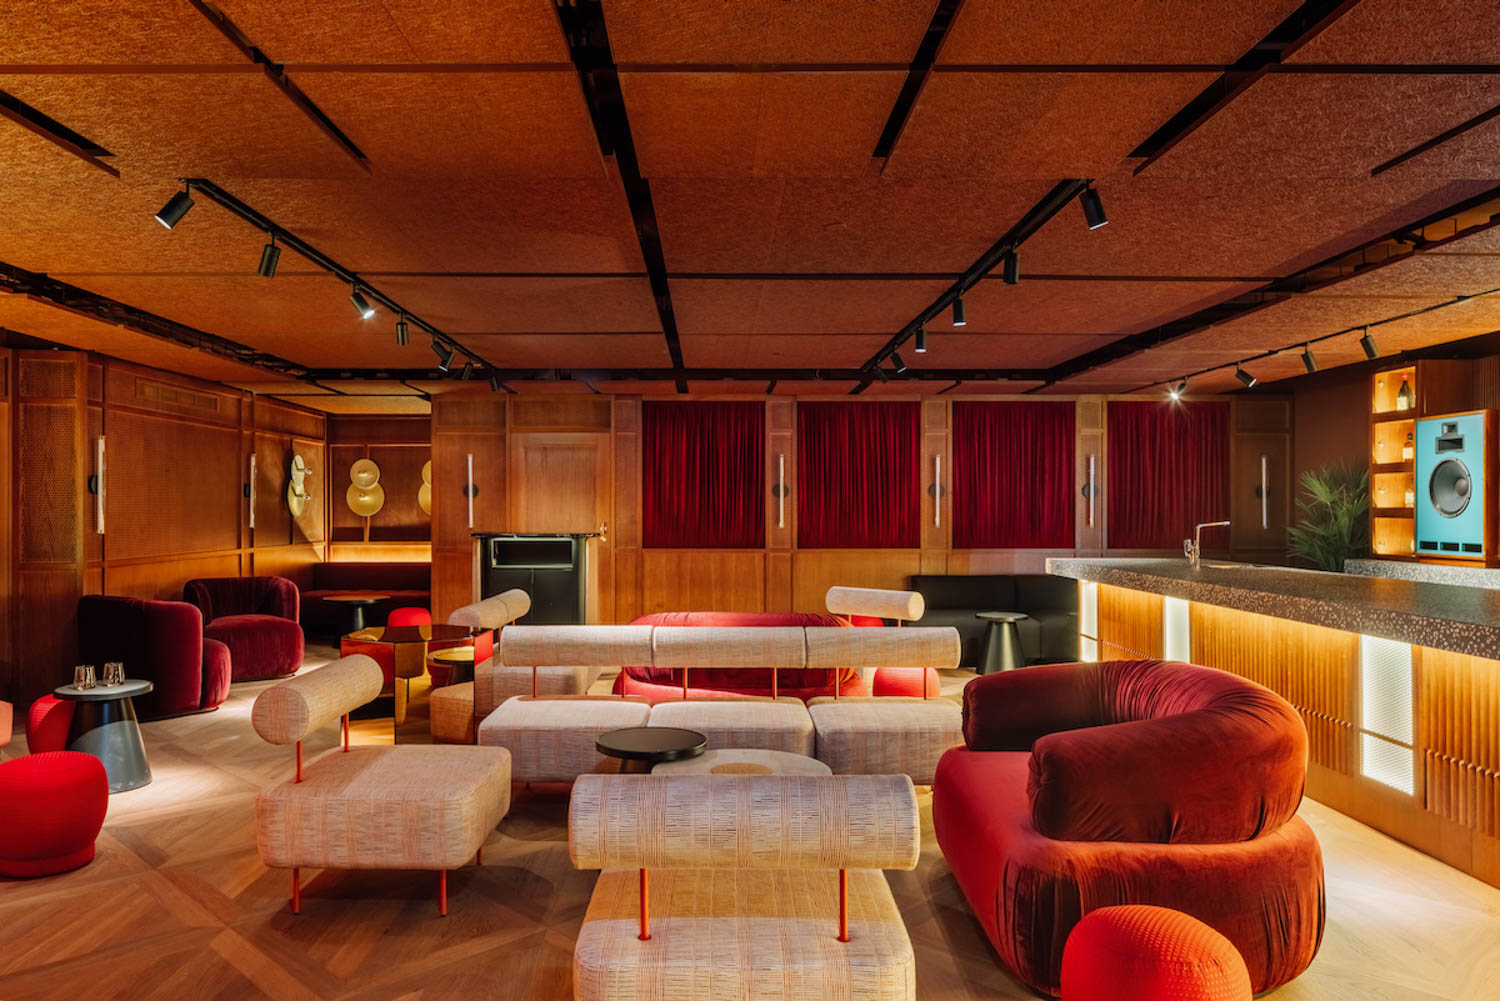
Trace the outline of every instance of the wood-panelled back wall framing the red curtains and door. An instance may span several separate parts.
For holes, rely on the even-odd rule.
[[[470,455],[478,491],[476,527],[585,530],[590,512],[596,512],[597,524],[608,527],[606,537],[591,543],[592,566],[598,572],[592,605],[600,621],[628,621],[645,612],[678,609],[816,612],[824,611],[824,593],[832,584],[906,587],[914,573],[1041,573],[1047,557],[1104,552],[1107,401],[1102,396],[1077,399],[1077,546],[1071,549],[952,548],[952,410],[948,399],[930,398],[921,401],[921,545],[916,549],[798,549],[796,401],[753,399],[766,407],[765,546],[645,549],[639,398],[500,396],[482,390],[436,396],[432,410],[435,614],[446,615],[472,596],[468,500],[462,492]],[[1281,435],[1275,455],[1284,462],[1290,411],[1286,401],[1269,401],[1269,416],[1262,413],[1260,401],[1257,408],[1245,410],[1236,419],[1236,434]],[[1245,453],[1256,456],[1250,467],[1257,479],[1238,483],[1236,497],[1254,497],[1260,449],[1269,447],[1260,440],[1246,444]],[[1082,489],[1089,455],[1095,456],[1098,491],[1092,519],[1089,497]],[[1284,483],[1286,474],[1280,476]],[[783,488],[784,498],[778,497]],[[1282,495],[1278,504],[1275,510],[1286,510],[1290,497]],[[1256,513],[1258,518],[1258,507]],[[1284,530],[1286,518],[1281,516],[1272,537]],[[1268,545],[1264,533],[1246,530],[1245,539],[1256,546],[1257,555],[1269,555],[1262,549]]]

